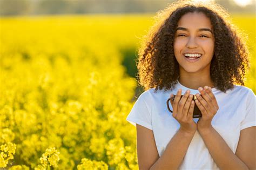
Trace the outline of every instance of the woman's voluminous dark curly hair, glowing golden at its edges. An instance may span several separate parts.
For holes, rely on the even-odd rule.
[[[172,89],[179,78],[179,64],[174,56],[173,40],[179,19],[188,12],[203,12],[213,26],[214,54],[210,76],[214,86],[226,93],[234,84],[244,86],[247,69],[250,69],[247,35],[231,23],[228,12],[213,1],[180,0],[157,12],[155,23],[138,49],[136,65],[139,85],[144,90]]]

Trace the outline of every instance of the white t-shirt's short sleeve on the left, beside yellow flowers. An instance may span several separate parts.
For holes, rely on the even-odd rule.
[[[126,120],[133,126],[139,124],[152,130],[151,112],[149,110],[150,104],[145,102],[144,97],[145,92],[140,94],[139,98],[134,103]]]

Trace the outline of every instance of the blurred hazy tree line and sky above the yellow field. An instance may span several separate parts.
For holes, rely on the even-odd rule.
[[[1,0],[0,15],[145,13],[164,9],[171,0]],[[254,0],[215,0],[232,13],[255,14]]]

